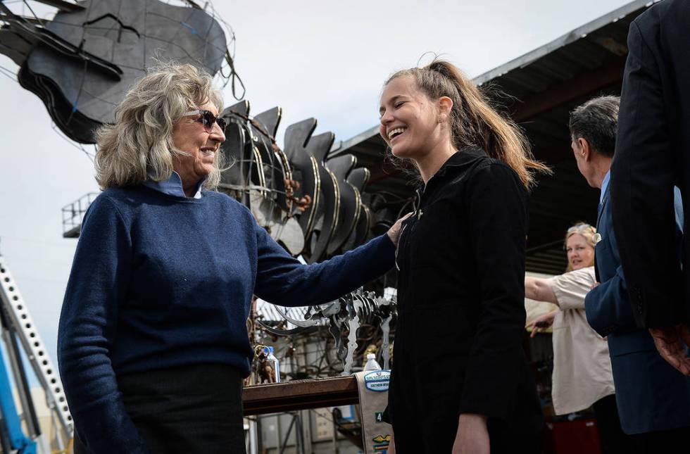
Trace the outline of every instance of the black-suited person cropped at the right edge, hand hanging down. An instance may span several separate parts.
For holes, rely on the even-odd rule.
[[[686,375],[690,270],[677,260],[673,187],[690,200],[689,49],[690,1],[661,1],[630,25],[611,178],[613,227],[637,326]],[[686,237],[682,263],[689,259]]]

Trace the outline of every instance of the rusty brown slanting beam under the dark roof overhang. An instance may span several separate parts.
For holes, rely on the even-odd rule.
[[[516,103],[513,114],[515,122],[532,119],[540,113],[548,112],[575,99],[592,94],[597,90],[620,83],[623,80],[625,56],[617,57],[610,63],[593,71],[587,71],[571,80],[558,84]]]

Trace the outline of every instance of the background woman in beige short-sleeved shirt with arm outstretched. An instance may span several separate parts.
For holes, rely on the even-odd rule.
[[[584,297],[596,285],[595,246],[596,229],[579,222],[565,234],[566,272],[549,279],[525,277],[527,298],[558,306],[527,328],[534,337],[553,325],[551,401],[556,415],[593,407],[602,452],[628,453],[633,447],[620,427],[608,342],[589,326],[584,312]]]

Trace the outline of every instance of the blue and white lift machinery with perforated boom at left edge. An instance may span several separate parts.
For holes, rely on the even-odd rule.
[[[54,453],[65,452],[73,436],[72,417],[58,371],[53,367],[35,328],[26,304],[0,256],[0,448],[3,453],[49,454],[51,448],[42,435],[33,405],[20,346],[46,394],[46,404],[56,425]],[[15,405],[10,374],[14,379],[21,412]],[[24,424],[22,424],[24,423]],[[25,432],[26,431],[26,432]]]

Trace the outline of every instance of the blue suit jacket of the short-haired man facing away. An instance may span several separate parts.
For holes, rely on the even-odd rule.
[[[661,358],[648,330],[636,327],[607,192],[597,222],[601,284],[587,294],[584,308],[591,327],[608,336],[620,424],[626,434],[690,426],[690,378]]]

